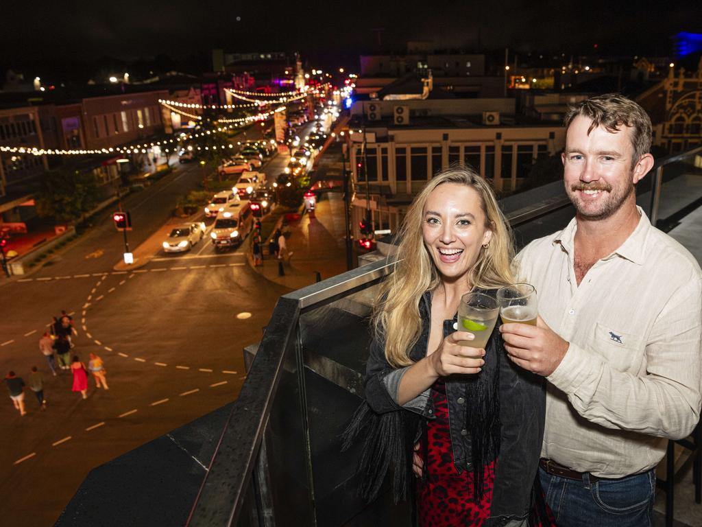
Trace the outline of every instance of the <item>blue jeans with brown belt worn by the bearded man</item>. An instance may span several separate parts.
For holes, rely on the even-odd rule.
[[[649,527],[656,495],[651,469],[621,479],[590,482],[566,479],[538,469],[546,503],[562,527]]]

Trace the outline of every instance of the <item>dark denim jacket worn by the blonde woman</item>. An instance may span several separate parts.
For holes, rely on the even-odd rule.
[[[494,296],[494,291],[486,292]],[[431,321],[431,292],[425,292],[419,306],[422,332],[409,357],[413,361],[427,354]],[[454,331],[453,320],[444,320],[444,338]],[[495,483],[486,525],[522,525],[529,514],[531,487],[538,468],[545,416],[545,384],[541,377],[522,370],[506,356],[498,330],[499,320],[486,346],[485,365],[499,363],[501,446],[496,453]],[[496,360],[502,353],[501,360]],[[396,402],[397,388],[406,368],[395,369],[385,359],[384,342],[373,339],[366,365],[366,401],[378,414],[405,410],[434,419],[430,389],[403,406]],[[453,377],[453,376],[452,376]],[[465,383],[460,376],[447,377],[451,445],[456,470],[472,470],[470,424],[465,423]],[[417,431],[416,441],[420,432]],[[487,461],[487,460],[486,460]]]

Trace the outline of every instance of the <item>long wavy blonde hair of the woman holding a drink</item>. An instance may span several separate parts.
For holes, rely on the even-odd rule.
[[[489,246],[480,251],[468,273],[469,287],[494,289],[512,283],[510,265],[514,258],[512,230],[487,183],[467,167],[440,171],[412,202],[399,230],[399,246],[393,272],[380,287],[373,313],[376,337],[385,340],[385,358],[393,367],[413,364],[409,351],[422,332],[419,301],[426,291],[439,286],[441,276],[424,245],[424,206],[435,188],[459,183],[475,190],[485,214],[485,228],[492,231]]]

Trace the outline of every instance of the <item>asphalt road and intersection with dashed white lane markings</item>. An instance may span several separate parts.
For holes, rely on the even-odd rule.
[[[284,160],[269,167],[279,174]],[[124,200],[136,247],[196,188],[199,164],[178,167]],[[27,415],[0,404],[0,523],[50,526],[88,471],[233,401],[244,382],[242,349],[260,340],[286,290],[246,263],[244,249],[215,254],[204,240],[189,254],[155,254],[146,266],[114,271],[123,245],[110,213],[27,278],[0,287],[0,371],[44,373],[46,410],[25,393]],[[105,360],[110,390],[72,375],[53,377],[37,341],[53,315],[73,313],[76,353]],[[4,389],[4,388],[3,388]]]

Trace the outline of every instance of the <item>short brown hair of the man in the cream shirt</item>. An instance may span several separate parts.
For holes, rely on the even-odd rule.
[[[592,119],[588,134],[600,125],[613,134],[620,126],[630,126],[632,128],[631,143],[634,147],[633,165],[639,162],[642,155],[651,150],[651,137],[653,135],[651,118],[646,110],[631,99],[618,93],[606,93],[585,99],[581,103],[571,106],[566,112],[564,119],[566,129],[578,115]]]

